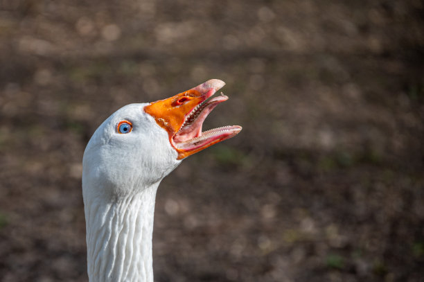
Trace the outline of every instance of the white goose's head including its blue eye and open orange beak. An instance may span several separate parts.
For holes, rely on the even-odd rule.
[[[238,125],[202,132],[206,116],[228,99],[223,94],[211,98],[223,86],[222,80],[208,80],[164,100],[126,105],[109,116],[84,153],[85,202],[136,193],[160,182],[182,159],[238,134]]]

